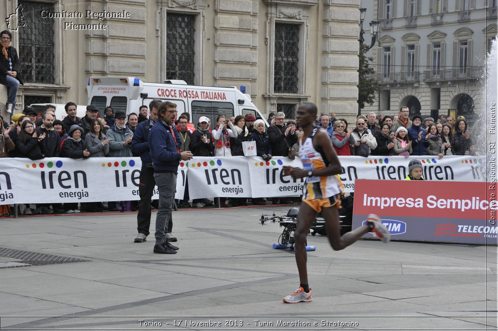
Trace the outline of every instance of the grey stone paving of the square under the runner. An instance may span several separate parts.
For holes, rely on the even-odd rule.
[[[378,322],[376,316],[419,316],[435,311],[444,316],[445,312],[497,309],[497,301],[486,300],[496,298],[496,247],[414,242],[384,245],[363,240],[336,252],[327,238],[320,236],[308,236],[308,244],[318,248],[308,254],[313,302],[284,304],[282,298],[299,285],[294,254],[271,249],[281,228],[259,225],[258,217],[251,215],[260,212],[250,208],[173,212],[173,233],[180,251],[168,256],[152,253],[153,235],[147,242],[132,242],[136,214],[27,217],[1,223],[0,240],[8,238],[0,241],[3,246],[8,243],[12,248],[92,261],[0,269],[0,299],[1,295],[14,296],[13,300],[0,300],[0,311],[5,311],[7,302],[26,298],[18,300],[20,306],[26,303],[23,307],[9,308],[11,314],[26,315],[9,325],[24,329],[126,329],[137,326],[136,319],[124,317],[132,315],[156,315],[171,321],[164,316],[273,314],[320,321],[311,316],[334,313],[369,316],[356,328],[368,330],[413,325],[476,329],[482,327],[478,313],[472,315],[476,320],[441,317],[433,318],[434,324],[427,322],[430,318]],[[151,229],[154,219],[155,213]],[[473,270],[481,267],[489,271]],[[28,323],[31,318],[27,316],[35,314],[40,301],[61,305],[45,309],[46,314],[95,318]],[[4,319],[1,323],[3,326]]]

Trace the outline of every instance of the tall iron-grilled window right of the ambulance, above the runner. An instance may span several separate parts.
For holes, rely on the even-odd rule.
[[[298,93],[299,25],[275,23],[275,93]]]

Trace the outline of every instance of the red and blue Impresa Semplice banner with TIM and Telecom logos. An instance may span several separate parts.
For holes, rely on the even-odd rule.
[[[357,179],[353,228],[373,213],[392,240],[497,244],[496,194],[489,182]]]

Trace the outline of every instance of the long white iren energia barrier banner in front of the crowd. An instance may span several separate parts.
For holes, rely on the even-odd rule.
[[[418,159],[426,180],[486,181],[486,158],[339,157],[346,192],[355,179],[404,179],[408,163]],[[284,176],[283,165],[301,166],[299,158],[195,158],[180,162],[176,198],[183,199],[186,178],[190,198],[280,197],[301,193],[303,180]],[[138,200],[140,158],[0,159],[0,204]],[[153,198],[157,198],[157,187]]]

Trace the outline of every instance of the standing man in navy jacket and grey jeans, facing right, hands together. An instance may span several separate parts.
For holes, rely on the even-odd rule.
[[[188,161],[193,158],[190,151],[180,152],[178,149],[173,126],[177,113],[175,103],[161,103],[158,107],[157,122],[150,129],[148,137],[154,179],[159,189],[154,253],[160,254],[175,254],[178,250],[178,247],[166,240],[166,227],[175,196],[178,165],[180,160]]]

